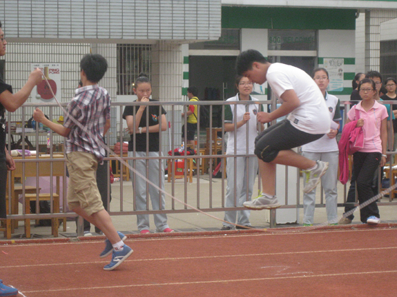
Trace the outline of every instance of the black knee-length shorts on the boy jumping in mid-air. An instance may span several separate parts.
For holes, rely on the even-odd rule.
[[[291,150],[320,139],[324,134],[310,134],[296,129],[287,119],[262,131],[255,139],[255,154],[264,162],[271,162],[280,150]]]

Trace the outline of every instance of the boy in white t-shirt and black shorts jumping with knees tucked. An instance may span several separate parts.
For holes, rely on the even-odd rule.
[[[312,161],[294,152],[311,141],[329,133],[331,120],[324,96],[311,77],[296,67],[269,63],[257,50],[242,52],[236,61],[238,74],[262,85],[268,81],[282,105],[271,113],[258,112],[260,123],[269,123],[288,114],[287,119],[261,132],[255,139],[255,154],[259,158],[262,194],[243,205],[249,209],[278,207],[275,196],[275,166],[289,165],[305,170],[303,192],[313,190],[328,168],[327,162]]]

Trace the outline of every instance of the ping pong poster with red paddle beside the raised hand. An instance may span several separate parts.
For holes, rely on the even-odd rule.
[[[61,101],[61,65],[56,63],[33,63],[32,70],[40,68],[46,76],[48,83],[50,83],[52,92],[54,92],[58,101]],[[39,85],[37,85],[31,93],[32,102],[52,102],[54,96],[52,96],[50,88],[48,88],[46,79],[43,79]]]

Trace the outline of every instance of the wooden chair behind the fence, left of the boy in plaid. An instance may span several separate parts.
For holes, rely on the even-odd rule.
[[[53,158],[63,158],[63,155],[54,155]],[[26,159],[35,159],[35,156],[26,157]],[[40,157],[50,158],[50,156]],[[15,160],[21,159],[21,157],[16,157]],[[53,162],[38,162],[39,170],[37,172],[37,162],[26,162],[25,163],[25,174],[23,174],[23,164],[21,162],[15,162],[16,169],[12,171],[12,178],[24,178],[28,176],[51,176],[51,163],[52,163],[52,176],[57,178],[56,182],[56,193],[52,194],[52,211],[54,213],[59,213],[59,177],[64,176],[64,160],[53,161]],[[12,183],[13,185],[13,183]],[[14,189],[12,189],[12,192]],[[30,201],[36,201],[37,195],[39,196],[39,201],[50,201],[51,194],[48,193],[25,193],[25,213],[30,214]],[[14,203],[18,203],[17,196],[14,197]],[[62,218],[64,223],[64,232],[66,232],[66,217]],[[52,235],[54,237],[58,236],[59,218],[53,218],[51,222]],[[25,233],[26,238],[30,238],[30,219],[25,219]]]

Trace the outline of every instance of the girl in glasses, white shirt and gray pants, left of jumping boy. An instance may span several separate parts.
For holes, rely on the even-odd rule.
[[[244,76],[238,75],[235,79],[238,94],[226,101],[258,101],[250,96],[253,83]],[[258,121],[256,115],[262,112],[261,104],[236,104],[224,107],[224,130],[227,132],[227,154],[253,154],[255,137],[258,136]],[[248,126],[248,127],[247,127]],[[263,127],[263,125],[262,125]],[[248,142],[248,147],[246,143]],[[237,168],[235,174],[235,166]],[[256,156],[238,156],[226,158],[226,207],[242,206],[244,201],[251,201],[253,183],[258,172],[258,158]],[[247,196],[248,187],[248,196]],[[249,223],[248,209],[224,212],[224,221],[237,223],[240,226],[252,227]],[[222,230],[233,229],[232,224],[223,223]],[[237,226],[237,229],[242,227]]]

